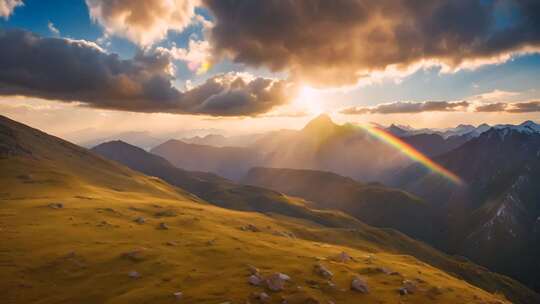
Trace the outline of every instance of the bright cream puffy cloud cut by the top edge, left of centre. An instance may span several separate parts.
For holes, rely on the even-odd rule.
[[[182,31],[195,15],[198,0],[86,0],[92,19],[108,35],[119,35],[148,46]]]

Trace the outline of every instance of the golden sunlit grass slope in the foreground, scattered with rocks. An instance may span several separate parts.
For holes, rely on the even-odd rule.
[[[5,118],[0,154],[2,303],[258,303],[261,292],[269,303],[507,302],[400,254],[410,243],[392,244],[394,233],[215,207]],[[343,251],[353,260],[332,259]],[[316,263],[334,273],[335,287]],[[249,285],[248,265],[290,281],[279,292]],[[368,294],[350,290],[356,275]],[[400,295],[403,280],[417,290]]]

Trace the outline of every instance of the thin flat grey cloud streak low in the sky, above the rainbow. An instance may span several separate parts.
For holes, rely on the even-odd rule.
[[[469,107],[467,101],[426,101],[426,102],[394,102],[380,104],[375,107],[352,107],[341,110],[342,114],[396,114],[421,112],[454,112],[464,111]]]

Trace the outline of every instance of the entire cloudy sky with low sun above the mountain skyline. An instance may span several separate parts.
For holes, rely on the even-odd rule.
[[[0,113],[59,136],[540,121],[535,0],[0,0]]]

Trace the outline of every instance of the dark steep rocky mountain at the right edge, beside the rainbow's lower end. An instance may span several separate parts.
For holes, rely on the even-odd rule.
[[[418,166],[395,184],[438,210],[437,245],[540,289],[540,134],[494,128],[437,161],[466,186]]]

